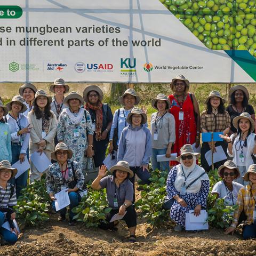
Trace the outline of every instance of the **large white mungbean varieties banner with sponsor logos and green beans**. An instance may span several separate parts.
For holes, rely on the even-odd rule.
[[[0,0],[0,82],[252,83],[255,10],[255,0]]]

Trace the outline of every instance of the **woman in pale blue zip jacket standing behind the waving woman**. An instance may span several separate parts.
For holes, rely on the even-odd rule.
[[[134,175],[137,174],[143,183],[149,184],[148,164],[152,151],[152,136],[148,127],[143,126],[147,122],[147,115],[141,109],[135,107],[127,116],[126,122],[129,126],[122,131],[117,159],[118,161],[128,162]],[[130,180],[133,183],[134,190],[134,176]]]

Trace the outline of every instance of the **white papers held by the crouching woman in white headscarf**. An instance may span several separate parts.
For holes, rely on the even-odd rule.
[[[208,214],[205,210],[201,210],[201,214],[196,217],[194,215],[194,210],[190,210],[186,213],[185,226],[186,230],[207,230],[209,229],[208,222],[206,219]]]

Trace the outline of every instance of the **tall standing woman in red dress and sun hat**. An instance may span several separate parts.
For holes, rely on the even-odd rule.
[[[189,81],[183,75],[173,78],[170,87],[173,90],[169,95],[170,113],[175,118],[176,133],[171,153],[179,156],[183,145],[195,143],[196,148],[200,145],[200,112],[195,95],[188,92]],[[171,166],[177,164],[177,161],[170,162]]]

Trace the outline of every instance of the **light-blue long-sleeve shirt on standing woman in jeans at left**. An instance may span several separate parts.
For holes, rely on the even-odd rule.
[[[25,127],[28,127],[29,122],[27,116],[19,114],[18,119],[14,119],[10,114],[6,116],[7,123],[10,127],[11,132],[11,141],[14,143],[22,142],[20,154],[26,154],[29,143],[29,133],[22,134],[21,136],[17,135],[17,132],[22,130]]]

